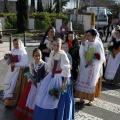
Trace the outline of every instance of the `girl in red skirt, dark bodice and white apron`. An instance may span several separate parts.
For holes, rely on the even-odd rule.
[[[42,53],[38,48],[33,50],[34,62],[30,64],[30,72],[35,77],[35,81],[30,79],[26,85],[18,106],[15,110],[15,116],[22,120],[32,120],[32,115],[35,108],[35,98],[38,88],[41,83],[41,79],[45,75],[45,62],[43,62]],[[37,86],[35,86],[35,83]]]

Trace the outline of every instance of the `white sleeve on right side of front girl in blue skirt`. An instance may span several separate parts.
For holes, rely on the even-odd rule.
[[[61,64],[60,64],[60,67],[62,68],[61,75],[63,77],[70,77],[71,76],[71,74],[70,74],[71,65],[70,65],[70,61],[68,60],[68,57],[67,57],[66,53],[62,53],[61,54]]]

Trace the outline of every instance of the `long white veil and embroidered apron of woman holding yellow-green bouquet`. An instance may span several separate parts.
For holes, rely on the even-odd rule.
[[[86,66],[85,53],[88,48],[94,48],[94,53],[100,55],[100,60],[93,60],[93,64]],[[85,46],[81,45],[80,48],[80,71],[75,89],[81,92],[94,93],[98,78],[101,76],[100,70],[103,62],[105,61],[103,45],[99,40],[94,42],[85,42]]]

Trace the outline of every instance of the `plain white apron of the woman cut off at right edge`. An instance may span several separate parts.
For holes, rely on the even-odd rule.
[[[105,71],[105,78],[113,80],[119,65],[120,65],[120,52],[115,56],[115,58],[113,58],[112,55],[110,55],[108,59],[107,68]]]

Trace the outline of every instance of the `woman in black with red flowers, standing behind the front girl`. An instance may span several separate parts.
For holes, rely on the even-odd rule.
[[[79,67],[79,47],[80,44],[77,39],[75,39],[75,34],[74,32],[70,31],[67,34],[66,37],[66,42],[68,43],[69,46],[69,51],[68,53],[71,55],[73,63],[72,63],[72,74],[73,74],[73,79],[77,79],[78,75],[78,67]]]

